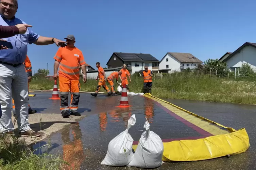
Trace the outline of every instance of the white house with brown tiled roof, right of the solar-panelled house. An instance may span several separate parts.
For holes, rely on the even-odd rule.
[[[187,68],[195,69],[203,62],[192,54],[180,52],[167,52],[159,63],[159,72],[181,71]]]

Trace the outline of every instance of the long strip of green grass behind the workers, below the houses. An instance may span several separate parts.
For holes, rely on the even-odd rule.
[[[171,74],[153,78],[152,95],[158,98],[213,101],[225,103],[256,104],[256,78],[197,77],[191,73]],[[81,91],[95,91],[98,81],[81,82]],[[54,81],[32,80],[30,89],[47,90],[53,88]],[[109,84],[107,84],[110,88]],[[117,84],[115,86],[118,87]],[[142,92],[143,79],[132,76],[129,83],[131,92]],[[100,91],[104,91],[101,88]]]

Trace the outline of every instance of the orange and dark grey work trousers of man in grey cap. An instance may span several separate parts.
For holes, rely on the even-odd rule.
[[[60,109],[61,112],[69,110],[77,111],[79,103],[79,80],[71,80],[65,77],[59,77]],[[68,94],[71,94],[70,107],[68,106]]]

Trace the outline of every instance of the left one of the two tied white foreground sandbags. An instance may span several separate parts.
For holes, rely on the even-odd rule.
[[[125,131],[117,135],[108,144],[107,154],[101,165],[108,166],[125,166],[133,158],[133,138],[128,133],[128,130],[136,123],[135,114],[128,120],[128,125]]]

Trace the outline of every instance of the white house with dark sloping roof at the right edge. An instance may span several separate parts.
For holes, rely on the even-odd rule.
[[[256,43],[245,42],[241,47],[235,50],[226,58],[223,56],[219,61],[224,61],[227,68],[235,71],[235,68],[240,68],[243,63],[248,63],[253,69],[256,69]],[[224,58],[224,59],[223,59]]]

